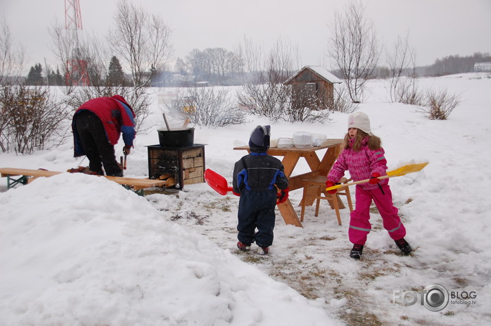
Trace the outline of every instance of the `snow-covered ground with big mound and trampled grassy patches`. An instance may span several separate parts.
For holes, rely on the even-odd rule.
[[[360,261],[349,257],[349,211],[341,210],[339,226],[326,202],[317,218],[307,208],[304,229],[277,212],[271,255],[261,257],[235,247],[238,198],[205,183],[141,197],[82,174],[8,191],[3,178],[0,325],[490,324],[491,78],[451,75],[419,85],[459,94],[461,104],[448,120],[432,121],[415,106],[390,103],[387,82],[374,80],[358,106],[382,139],[389,170],[429,161],[389,182],[411,255],[400,255],[376,211]],[[148,123],[161,126],[157,103],[156,94]],[[206,166],[231,182],[245,154],[233,147],[258,124],[271,124],[273,138],[295,131],[342,138],[346,121],[343,113],[326,124],[251,117],[240,126],[196,126],[195,143],[207,144]],[[155,130],[137,135],[126,176],[148,176],[145,146],[158,142]],[[70,141],[29,156],[0,154],[0,167],[65,171],[88,164],[80,161]],[[300,161],[293,174],[307,171]],[[299,213],[301,190],[290,200]],[[450,296],[438,312],[420,304],[433,284]],[[418,301],[406,305],[404,295]]]

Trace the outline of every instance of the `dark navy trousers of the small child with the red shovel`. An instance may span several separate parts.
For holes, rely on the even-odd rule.
[[[273,244],[276,190],[248,191],[240,194],[237,238],[243,244],[255,242],[260,247]],[[258,228],[258,233],[255,229]]]

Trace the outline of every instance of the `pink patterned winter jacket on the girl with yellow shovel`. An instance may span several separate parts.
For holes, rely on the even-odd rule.
[[[361,142],[359,151],[352,149],[354,139],[350,139],[347,148],[339,154],[338,159],[332,165],[332,169],[328,174],[328,180],[334,183],[339,183],[339,180],[344,176],[345,171],[350,172],[353,181],[361,181],[369,179],[373,173],[378,173],[380,176],[387,175],[387,160],[385,159],[385,151],[383,148],[378,150],[370,150],[368,148],[368,137],[365,137]],[[380,180],[380,185],[387,185],[389,179]],[[360,184],[365,190],[377,189],[378,185],[370,185],[369,183]]]

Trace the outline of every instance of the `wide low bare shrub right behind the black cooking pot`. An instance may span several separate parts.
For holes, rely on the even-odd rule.
[[[189,118],[200,126],[222,127],[246,122],[246,113],[231,100],[227,89],[190,87],[176,93],[176,98],[164,105],[174,116]]]

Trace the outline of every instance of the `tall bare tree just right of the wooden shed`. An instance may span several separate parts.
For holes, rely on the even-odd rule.
[[[363,16],[361,2],[345,5],[345,12],[334,14],[328,53],[347,84],[353,102],[361,102],[365,83],[373,75],[380,47],[372,21]]]

